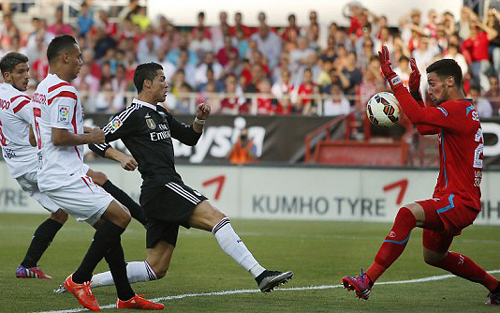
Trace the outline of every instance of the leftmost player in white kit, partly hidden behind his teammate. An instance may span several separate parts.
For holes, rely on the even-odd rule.
[[[0,60],[0,71],[5,80],[4,84],[0,84],[0,146],[3,157],[11,176],[21,188],[51,213],[50,218],[36,229],[28,251],[16,269],[16,277],[51,279],[38,266],[38,261],[66,222],[68,214],[38,189],[38,149],[30,127],[33,107],[31,99],[24,93],[30,79],[28,58],[21,53],[10,52]],[[111,152],[120,160],[124,169],[133,170],[137,166],[133,158],[114,149]],[[109,181],[104,173],[88,169],[87,175],[124,204],[132,216],[146,226],[147,220],[139,204]]]

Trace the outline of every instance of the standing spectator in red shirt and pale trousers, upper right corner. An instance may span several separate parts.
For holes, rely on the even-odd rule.
[[[488,46],[498,32],[477,19],[471,20],[469,25],[470,37],[462,43],[462,53],[472,63],[470,70],[474,83],[479,84],[484,91],[488,91],[490,82],[487,73],[491,69]]]

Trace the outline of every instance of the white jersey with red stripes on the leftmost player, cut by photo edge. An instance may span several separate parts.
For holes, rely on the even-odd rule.
[[[28,96],[10,84],[0,84],[0,145],[14,178],[38,168],[37,149],[29,143],[31,112]]]

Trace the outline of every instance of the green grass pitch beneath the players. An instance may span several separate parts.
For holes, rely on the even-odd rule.
[[[70,294],[52,290],[73,272],[86,252],[93,230],[68,220],[42,257],[40,266],[54,279],[17,279],[21,262],[42,215],[0,214],[0,312],[35,312],[80,308]],[[295,277],[284,288],[339,285],[342,276],[358,275],[367,268],[390,224],[296,221],[232,221],[260,263],[273,270],[293,270]],[[453,251],[471,257],[486,270],[500,269],[500,230],[472,226],[457,237]],[[145,258],[144,229],[133,221],[122,236],[127,260]],[[406,251],[381,277],[397,281],[443,275],[422,259],[422,231],[412,232]],[[106,271],[103,260],[96,272]],[[499,274],[496,274],[500,277]],[[133,285],[147,298],[188,293],[256,289],[249,273],[228,257],[210,233],[184,230],[167,276],[159,281]],[[114,287],[94,289],[101,306],[116,302]],[[375,286],[369,301],[357,301],[342,288],[275,291],[197,296],[163,301],[166,312],[493,312],[484,305],[484,287],[460,278]],[[496,310],[497,311],[497,310]]]

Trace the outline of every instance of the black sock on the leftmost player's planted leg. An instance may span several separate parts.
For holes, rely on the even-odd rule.
[[[24,267],[35,267],[62,225],[51,218],[40,224],[35,230],[35,234],[21,265]]]

